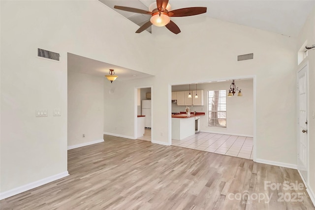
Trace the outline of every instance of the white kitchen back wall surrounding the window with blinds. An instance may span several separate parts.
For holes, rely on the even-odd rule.
[[[202,132],[214,132],[230,135],[253,136],[253,80],[236,80],[235,85],[242,89],[243,96],[226,98],[226,128],[208,126],[208,93],[209,90],[228,90],[231,82],[198,84],[198,90],[204,90],[204,106],[192,106],[190,111],[204,112],[200,118]],[[191,86],[192,87],[192,86]],[[195,86],[193,86],[195,90]],[[173,86],[172,91],[188,90],[188,85]],[[192,90],[192,89],[191,89]],[[228,92],[228,91],[226,91]],[[172,112],[184,112],[185,106],[172,104]]]

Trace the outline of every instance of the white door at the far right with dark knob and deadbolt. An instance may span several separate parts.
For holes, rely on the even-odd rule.
[[[298,73],[298,169],[304,180],[308,182],[308,65]]]

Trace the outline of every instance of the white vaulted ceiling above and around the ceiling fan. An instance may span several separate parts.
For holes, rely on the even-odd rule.
[[[114,5],[119,5],[143,10],[148,10],[149,5],[155,2],[154,0],[99,1],[113,9]],[[172,9],[205,6],[207,13],[201,15],[292,37],[298,36],[315,6],[315,0],[170,0],[169,3]],[[139,26],[151,17],[114,10]],[[151,27],[148,31],[151,31]]]

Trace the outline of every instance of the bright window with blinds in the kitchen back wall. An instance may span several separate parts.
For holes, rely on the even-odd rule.
[[[208,126],[226,127],[226,90],[208,91]]]

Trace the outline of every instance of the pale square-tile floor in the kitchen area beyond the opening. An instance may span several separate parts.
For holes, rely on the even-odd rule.
[[[183,140],[173,140],[172,145],[203,150],[252,160],[252,137],[199,132]]]

